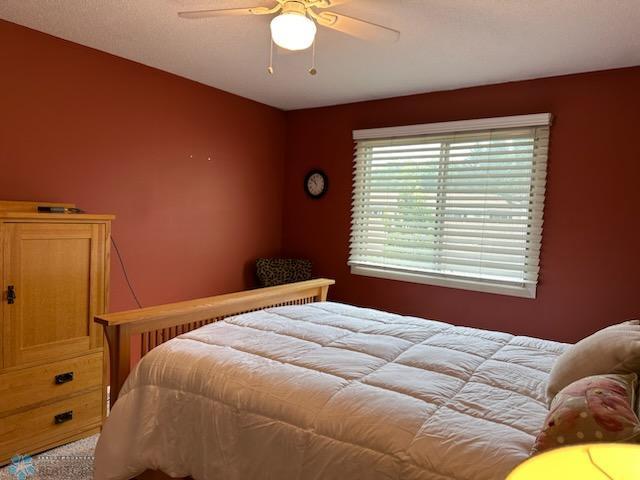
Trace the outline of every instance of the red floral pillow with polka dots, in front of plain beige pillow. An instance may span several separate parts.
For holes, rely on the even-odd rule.
[[[639,441],[637,381],[635,373],[594,375],[563,388],[551,403],[533,453],[577,443]]]

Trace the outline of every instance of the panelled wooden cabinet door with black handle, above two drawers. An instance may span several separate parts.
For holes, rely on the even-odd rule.
[[[6,223],[3,231],[5,368],[102,346],[93,317],[105,305],[105,225]]]

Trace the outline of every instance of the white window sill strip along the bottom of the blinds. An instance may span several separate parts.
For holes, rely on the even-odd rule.
[[[427,273],[410,273],[375,267],[352,266],[351,273],[365,277],[385,278],[403,282],[422,283],[438,287],[459,288],[475,292],[509,295],[512,297],[536,298],[536,286],[527,284],[508,284],[489,280],[473,280],[459,277],[429,275]]]

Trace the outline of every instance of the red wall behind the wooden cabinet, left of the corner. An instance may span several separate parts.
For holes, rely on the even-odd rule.
[[[0,68],[0,198],[116,214],[145,305],[243,289],[279,251],[281,111],[4,21]]]

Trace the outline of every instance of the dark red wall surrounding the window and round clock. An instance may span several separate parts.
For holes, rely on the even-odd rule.
[[[551,112],[535,300],[351,275],[352,130]],[[331,298],[455,324],[575,341],[640,316],[640,68],[287,113],[284,249],[335,278]],[[330,189],[303,191],[322,168]]]

